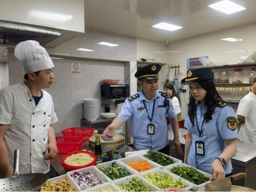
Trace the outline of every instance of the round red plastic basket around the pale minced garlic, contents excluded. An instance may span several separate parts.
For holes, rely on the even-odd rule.
[[[93,157],[93,161],[91,163],[88,163],[86,165],[80,165],[80,166],[73,166],[73,165],[68,165],[65,163],[65,159],[73,154],[78,154],[78,153],[86,153],[88,155],[90,155],[91,157]],[[92,152],[89,152],[89,151],[77,151],[77,152],[72,152],[72,153],[69,153],[67,155],[65,155],[64,157],[62,157],[62,160],[61,160],[61,165],[65,168],[66,172],[70,172],[71,170],[76,170],[76,169],[79,169],[79,168],[84,168],[84,167],[89,167],[89,166],[92,166],[96,163],[96,155]]]

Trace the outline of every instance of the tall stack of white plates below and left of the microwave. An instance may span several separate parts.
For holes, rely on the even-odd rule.
[[[99,99],[83,99],[83,118],[95,121],[99,118]]]

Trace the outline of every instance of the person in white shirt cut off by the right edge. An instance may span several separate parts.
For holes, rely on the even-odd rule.
[[[251,84],[251,92],[244,96],[237,110],[240,127],[238,138],[248,143],[256,143],[256,78]]]

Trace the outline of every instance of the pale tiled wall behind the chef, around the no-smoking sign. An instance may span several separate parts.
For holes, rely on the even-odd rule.
[[[81,78],[71,78],[71,63],[81,64]],[[58,122],[54,124],[55,132],[67,127],[80,126],[82,118],[82,99],[100,99],[101,79],[124,79],[123,62],[99,60],[53,59],[55,79],[51,88],[46,89],[53,98]],[[23,79],[23,69],[18,60],[10,58],[10,85]],[[104,109],[101,109],[101,112]],[[120,106],[112,106],[111,112],[119,112]]]

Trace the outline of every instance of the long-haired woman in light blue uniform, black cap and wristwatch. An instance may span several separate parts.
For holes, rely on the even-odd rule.
[[[184,163],[211,174],[211,181],[231,175],[230,159],[237,152],[238,137],[234,111],[218,94],[213,79],[210,68],[199,68],[188,70],[181,80],[191,94]]]

